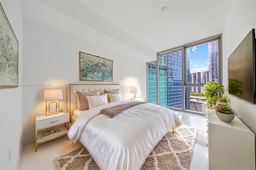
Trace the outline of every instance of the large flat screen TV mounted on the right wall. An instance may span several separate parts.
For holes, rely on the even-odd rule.
[[[256,104],[255,29],[228,57],[228,93]]]

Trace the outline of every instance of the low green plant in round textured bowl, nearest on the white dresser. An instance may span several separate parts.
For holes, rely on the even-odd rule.
[[[231,122],[235,118],[234,111],[228,105],[216,105],[215,113],[222,122]]]

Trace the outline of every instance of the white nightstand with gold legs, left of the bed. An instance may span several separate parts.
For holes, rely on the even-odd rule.
[[[68,112],[61,112],[54,115],[39,115],[36,116],[36,149],[40,143],[47,142],[49,140],[58,138],[68,134],[70,122],[70,114]],[[42,133],[50,131],[52,129],[60,129],[60,133],[49,135],[49,137],[42,139]]]

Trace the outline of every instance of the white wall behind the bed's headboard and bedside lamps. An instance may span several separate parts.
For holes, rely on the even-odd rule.
[[[139,85],[138,97],[146,100],[146,63],[125,57],[87,40],[24,18],[24,83],[50,83],[50,87],[23,87],[23,140],[35,140],[36,115],[45,114],[44,89],[61,88],[60,109],[67,110],[70,83],[121,84],[122,97],[130,97],[129,86]],[[76,31],[76,26],[70,26]],[[88,33],[90,34],[90,33]],[[99,37],[98,37],[99,38]],[[113,60],[113,82],[80,81],[79,51]],[[137,56],[140,57],[140,56]],[[38,146],[40,147],[40,145]]]

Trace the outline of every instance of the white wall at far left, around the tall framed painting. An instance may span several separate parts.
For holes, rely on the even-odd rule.
[[[23,79],[23,17],[19,1],[3,1],[2,7],[19,41],[19,83]],[[22,150],[23,87],[0,89],[0,169],[18,167]]]

